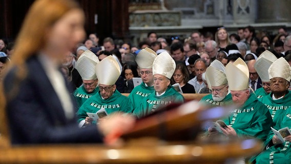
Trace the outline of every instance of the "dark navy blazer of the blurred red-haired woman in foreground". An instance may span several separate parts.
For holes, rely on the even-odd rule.
[[[36,56],[26,61],[26,67],[25,79],[16,78],[15,67],[4,79],[12,144],[102,141],[103,136],[96,126],[79,128],[76,118],[65,117],[60,100]],[[11,97],[11,93],[14,96]]]

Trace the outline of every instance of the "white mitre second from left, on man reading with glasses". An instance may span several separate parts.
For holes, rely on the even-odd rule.
[[[101,60],[95,70],[98,83],[102,85],[114,85],[120,75],[119,65],[112,55]]]

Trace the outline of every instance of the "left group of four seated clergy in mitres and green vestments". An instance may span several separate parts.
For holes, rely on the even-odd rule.
[[[87,51],[76,63],[84,83],[74,92],[80,106],[77,112],[80,127],[95,123],[88,117],[87,112],[96,113],[105,109],[108,114],[119,111],[133,113],[139,118],[154,112],[160,105],[184,101],[183,96],[170,85],[176,65],[167,52],[157,56],[151,49],[141,50],[136,60],[143,83],[136,87],[129,97],[116,90],[115,82],[120,75],[120,69],[114,58],[108,56],[99,63],[94,58],[92,53]],[[95,84],[97,77],[98,87]]]

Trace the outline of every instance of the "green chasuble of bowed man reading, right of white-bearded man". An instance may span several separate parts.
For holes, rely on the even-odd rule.
[[[251,93],[244,105],[235,109],[224,122],[235,129],[239,138],[252,137],[265,140],[271,130],[272,117],[266,106]]]

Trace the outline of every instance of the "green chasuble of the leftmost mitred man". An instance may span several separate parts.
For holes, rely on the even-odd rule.
[[[99,91],[99,87],[96,87],[92,93],[87,93],[84,85],[81,85],[79,88],[77,88],[73,95],[76,100],[76,103],[78,105],[78,109],[82,106],[82,104],[91,96],[96,94]]]

